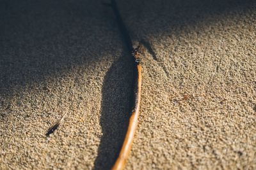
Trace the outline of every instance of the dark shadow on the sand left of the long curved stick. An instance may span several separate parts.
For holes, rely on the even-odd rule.
[[[111,169],[122,147],[132,104],[131,63],[129,57],[123,53],[104,77],[100,115],[102,138],[94,169]]]

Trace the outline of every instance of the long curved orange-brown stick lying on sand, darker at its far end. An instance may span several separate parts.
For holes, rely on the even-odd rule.
[[[131,117],[129,118],[129,125],[127,128],[127,132],[125,134],[124,143],[118,158],[114,166],[112,167],[113,170],[116,169],[124,169],[125,162],[128,158],[129,152],[131,150],[132,141],[134,139],[134,134],[136,132],[136,127],[138,125],[138,117],[139,117],[139,109],[140,109],[140,96],[141,96],[141,64],[140,64],[140,55],[138,53],[138,46],[137,48],[132,47],[131,37],[129,36],[129,32],[125,27],[125,24],[122,20],[118,7],[116,5],[115,0],[111,1],[111,6],[113,8],[113,12],[116,15],[116,21],[118,23],[118,27],[124,36],[125,44],[127,45],[128,50],[131,52],[132,58],[134,59],[134,71],[135,71],[135,89],[134,89],[134,107],[132,109]]]

